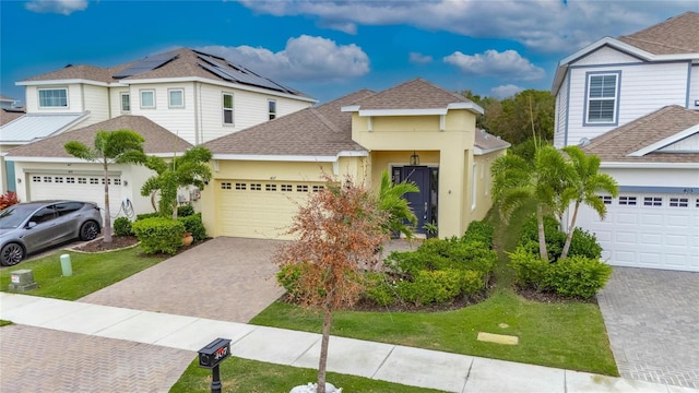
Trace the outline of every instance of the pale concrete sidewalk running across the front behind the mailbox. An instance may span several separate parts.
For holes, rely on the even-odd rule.
[[[320,353],[320,335],[313,333],[17,294],[0,293],[0,319],[190,350],[192,359],[198,349],[216,337],[232,340],[233,356],[294,367],[316,368]],[[343,337],[331,337],[328,369],[447,392],[698,392],[690,388]],[[167,389],[169,386],[163,386]]]

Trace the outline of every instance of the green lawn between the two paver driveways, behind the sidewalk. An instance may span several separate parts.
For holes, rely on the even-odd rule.
[[[490,297],[445,312],[340,311],[332,334],[390,344],[618,376],[600,309],[593,303],[542,303],[518,296],[502,250],[511,250],[524,214],[496,224],[499,262]],[[275,302],[250,323],[308,332],[321,331],[321,319],[298,307]],[[501,327],[507,325],[506,327]],[[478,342],[478,332],[516,335],[516,346]]]

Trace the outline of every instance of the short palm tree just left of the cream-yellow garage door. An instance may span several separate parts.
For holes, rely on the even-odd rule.
[[[211,152],[203,146],[194,146],[169,163],[161,157],[150,156],[145,166],[157,175],[145,180],[141,187],[141,195],[159,192],[161,215],[171,215],[173,219],[177,219],[177,189],[192,184],[203,190],[212,176],[209,167],[211,158]]]

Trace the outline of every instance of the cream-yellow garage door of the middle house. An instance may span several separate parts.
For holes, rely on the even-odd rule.
[[[222,236],[289,239],[286,231],[321,182],[222,180],[216,184],[221,201]]]

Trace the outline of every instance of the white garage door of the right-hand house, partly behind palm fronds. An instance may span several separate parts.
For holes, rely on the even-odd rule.
[[[699,272],[699,196],[621,193],[604,202],[603,222],[581,207],[578,224],[596,235],[609,264]]]

